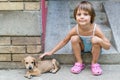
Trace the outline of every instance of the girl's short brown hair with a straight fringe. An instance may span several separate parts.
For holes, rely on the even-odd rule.
[[[82,1],[79,3],[79,5],[74,9],[74,18],[76,20],[76,14],[78,10],[85,10],[88,11],[89,15],[91,16],[91,23],[94,22],[94,17],[95,17],[95,11],[93,9],[93,6],[90,2],[88,1]]]

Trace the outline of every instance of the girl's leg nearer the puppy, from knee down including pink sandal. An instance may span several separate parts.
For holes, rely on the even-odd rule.
[[[79,36],[73,36],[71,37],[71,44],[74,52],[74,56],[76,58],[76,63],[71,68],[71,72],[78,74],[80,73],[84,68],[85,65],[82,63],[81,58],[81,50],[83,50],[82,41],[80,40]]]

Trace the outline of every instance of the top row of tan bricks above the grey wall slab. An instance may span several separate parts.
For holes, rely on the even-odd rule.
[[[0,0],[0,10],[40,10],[39,0]]]

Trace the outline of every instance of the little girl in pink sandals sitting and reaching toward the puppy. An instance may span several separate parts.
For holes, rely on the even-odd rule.
[[[101,48],[109,49],[111,44],[102,33],[99,26],[94,23],[94,17],[95,11],[92,4],[88,1],[82,1],[74,9],[74,18],[77,24],[69,31],[62,41],[51,51],[42,54],[40,58],[54,54],[71,41],[73,54],[76,59],[74,66],[71,68],[71,72],[75,74],[80,73],[85,68],[81,58],[81,52],[91,52],[91,71],[93,75],[101,75],[102,69],[100,64],[97,63]]]

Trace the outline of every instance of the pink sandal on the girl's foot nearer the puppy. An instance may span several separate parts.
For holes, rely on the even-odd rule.
[[[80,73],[85,68],[84,64],[75,63],[75,65],[71,68],[71,72],[74,74]]]

